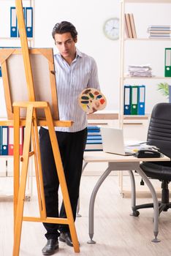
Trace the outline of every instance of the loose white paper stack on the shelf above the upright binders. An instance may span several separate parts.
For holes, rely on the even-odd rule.
[[[129,75],[132,77],[147,77],[151,78],[151,67],[150,65],[129,65],[128,71]]]

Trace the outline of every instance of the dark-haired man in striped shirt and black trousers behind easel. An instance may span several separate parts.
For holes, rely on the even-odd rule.
[[[59,53],[54,56],[56,68],[56,86],[58,91],[58,110],[60,120],[72,120],[72,127],[55,127],[58,146],[69,191],[74,219],[76,218],[77,199],[79,197],[80,177],[83,164],[83,152],[87,138],[86,113],[78,105],[78,96],[88,87],[99,89],[96,62],[75,47],[77,31],[72,23],[62,21],[53,28],[53,39]],[[41,127],[39,144],[42,159],[43,182],[47,217],[58,217],[58,176],[53,159],[49,132]],[[66,218],[64,203],[59,216]],[[53,255],[60,241],[73,246],[68,225],[44,223],[47,244],[43,255]]]

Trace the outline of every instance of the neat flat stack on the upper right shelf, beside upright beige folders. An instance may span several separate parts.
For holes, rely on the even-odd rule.
[[[148,26],[149,38],[170,38],[170,26]]]

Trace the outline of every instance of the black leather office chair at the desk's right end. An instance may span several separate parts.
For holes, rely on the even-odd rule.
[[[162,154],[171,158],[171,103],[159,103],[153,107],[148,127],[148,144],[159,148]],[[159,214],[171,208],[168,184],[171,181],[171,162],[142,162],[140,167],[149,178],[161,181],[161,202]],[[140,213],[137,209],[151,208],[153,203],[146,203],[132,208],[133,215]]]

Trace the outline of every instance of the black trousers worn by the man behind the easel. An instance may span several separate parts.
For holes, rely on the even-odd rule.
[[[72,213],[75,219],[83,165],[83,153],[86,147],[87,129],[83,129],[80,132],[56,132],[56,136],[64,167]],[[43,127],[39,129],[39,146],[47,217],[66,218],[64,203],[62,203],[60,213],[58,214],[58,175],[56,173],[49,131]],[[43,225],[47,230],[45,234],[47,239],[57,239],[59,236],[58,230],[60,232],[69,231],[68,225],[53,223],[43,223]]]

